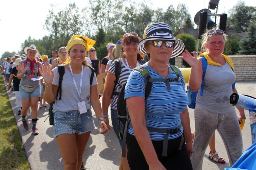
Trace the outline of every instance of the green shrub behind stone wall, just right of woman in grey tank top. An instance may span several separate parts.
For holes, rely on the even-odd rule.
[[[227,40],[227,43],[224,48],[225,55],[235,55],[240,50],[239,45],[240,39],[236,35],[231,35],[231,39]]]

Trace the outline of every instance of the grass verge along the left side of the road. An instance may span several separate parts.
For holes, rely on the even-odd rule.
[[[0,91],[0,169],[30,169],[1,77]]]

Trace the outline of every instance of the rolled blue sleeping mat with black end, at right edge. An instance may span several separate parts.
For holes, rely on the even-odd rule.
[[[233,93],[229,98],[229,103],[232,106],[240,107],[246,110],[256,109],[256,98],[248,95]]]

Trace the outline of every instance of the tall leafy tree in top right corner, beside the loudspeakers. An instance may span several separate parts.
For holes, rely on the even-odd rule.
[[[246,32],[249,24],[255,19],[256,8],[245,6],[245,2],[238,3],[228,11],[230,16],[227,18],[227,27],[236,32]]]

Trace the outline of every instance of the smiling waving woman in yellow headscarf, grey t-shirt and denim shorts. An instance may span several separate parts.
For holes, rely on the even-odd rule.
[[[99,119],[99,126],[102,130],[100,134],[108,131],[101,112],[96,75],[90,84],[91,69],[85,59],[87,49],[94,44],[94,40],[81,35],[74,35],[69,40],[70,62],[65,65],[60,100],[60,94],[57,96],[58,67],[51,70],[45,63],[43,70],[40,70],[45,81],[45,100],[48,103],[55,100],[53,105],[54,137],[56,137],[63,158],[64,169],[81,168],[90,133],[96,129],[91,106]]]

